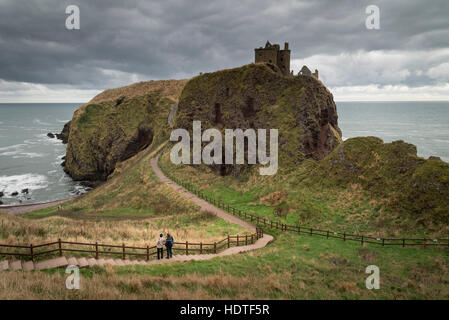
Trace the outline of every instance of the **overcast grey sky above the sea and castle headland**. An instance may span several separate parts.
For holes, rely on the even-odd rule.
[[[288,41],[295,73],[318,69],[337,101],[449,100],[448,15],[448,0],[0,0],[0,102],[86,102],[251,63],[267,40]]]

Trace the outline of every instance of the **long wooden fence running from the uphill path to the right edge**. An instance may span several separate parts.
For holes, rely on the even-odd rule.
[[[226,204],[220,200],[216,200],[204,194],[201,190],[196,189],[192,184],[186,183],[177,179],[176,177],[171,176],[164,172],[166,176],[168,176],[172,181],[177,183],[178,185],[184,187],[189,190],[196,196],[206,200],[207,202],[226,210],[227,212],[236,215],[240,218],[244,218],[255,223],[259,227],[265,227],[270,229],[277,229],[281,231],[290,231],[303,235],[311,235],[311,236],[321,236],[327,239],[341,239],[343,241],[353,241],[359,242],[361,245],[365,243],[381,245],[381,246],[421,246],[421,247],[431,247],[431,246],[443,246],[449,248],[449,239],[446,238],[380,238],[374,236],[365,236],[361,234],[351,234],[346,232],[335,232],[330,230],[321,230],[317,228],[305,227],[301,225],[288,225],[283,224],[279,221],[273,221],[265,217],[256,216],[254,214],[248,213],[246,211],[242,211],[236,209],[229,204]]]

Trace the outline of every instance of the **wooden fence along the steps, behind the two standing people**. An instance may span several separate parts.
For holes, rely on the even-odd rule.
[[[257,239],[263,237],[263,230],[256,228],[256,233],[250,235],[228,235],[223,240],[213,243],[193,243],[193,242],[175,242],[173,246],[173,252],[179,252],[180,254],[216,254],[222,250],[230,248],[232,246],[244,246],[253,244]],[[9,251],[5,251],[8,250]],[[147,261],[151,257],[157,255],[156,246],[136,247],[112,244],[85,243],[85,242],[73,242],[58,241],[39,244],[39,245],[10,245],[0,244],[0,256],[15,256],[20,258],[29,258],[34,261],[41,256],[48,256],[51,254],[58,254],[62,256],[64,252],[82,253],[95,255],[98,259],[100,255],[112,255],[126,259],[127,257],[140,257],[145,258]]]

